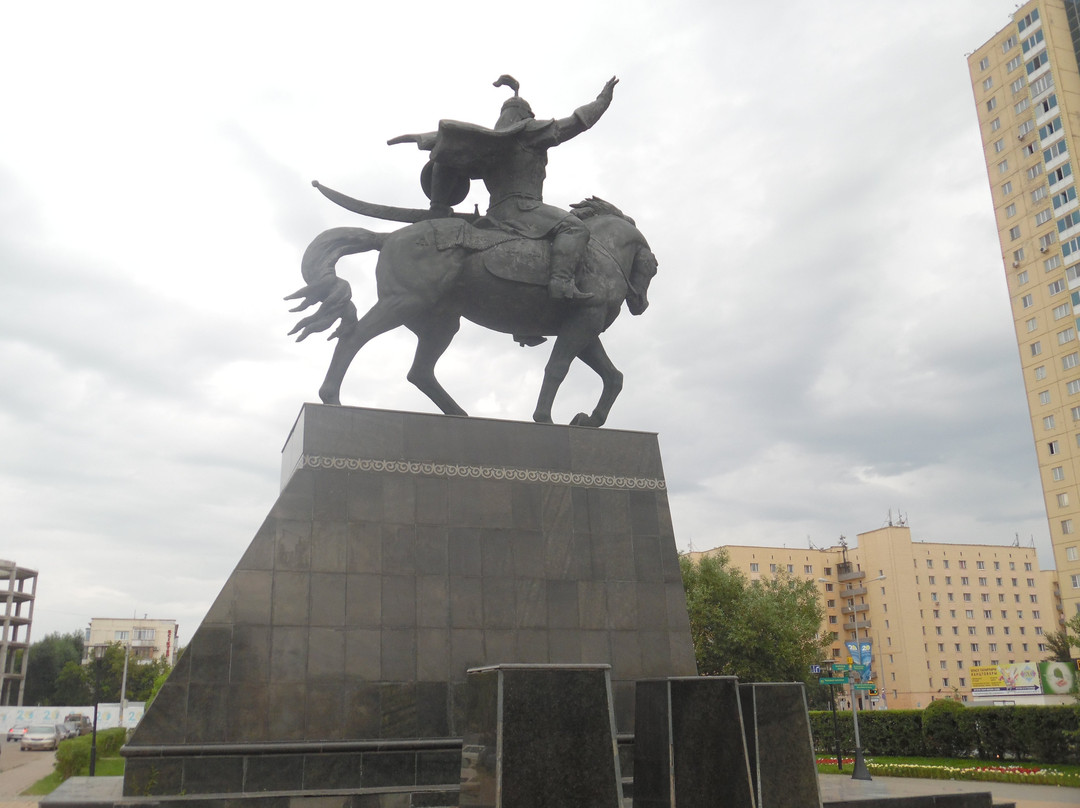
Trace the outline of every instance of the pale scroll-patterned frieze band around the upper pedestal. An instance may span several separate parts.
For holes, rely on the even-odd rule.
[[[460,466],[420,460],[367,460],[355,457],[325,457],[305,455],[300,466],[309,469],[345,469],[348,471],[378,471],[397,474],[423,474],[438,477],[472,477],[474,480],[510,480],[522,483],[554,483],[582,488],[630,488],[637,490],[664,490],[663,480],[654,477],[623,477],[610,474],[577,474],[569,471],[545,469],[508,469],[492,466]]]

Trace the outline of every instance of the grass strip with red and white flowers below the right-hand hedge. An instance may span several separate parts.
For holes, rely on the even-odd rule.
[[[843,759],[843,773],[850,775],[854,762]],[[951,757],[867,757],[870,775],[881,777],[921,777],[931,780],[984,780],[996,783],[1066,785],[1080,789],[1080,766],[1065,764],[1014,763]],[[835,757],[818,757],[818,771],[838,775]]]

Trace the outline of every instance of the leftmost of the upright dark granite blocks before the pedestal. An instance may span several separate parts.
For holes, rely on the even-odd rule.
[[[608,665],[469,672],[461,808],[621,808]]]

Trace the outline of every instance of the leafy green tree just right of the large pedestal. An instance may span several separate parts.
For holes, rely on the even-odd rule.
[[[812,581],[786,574],[747,580],[720,552],[681,556],[698,673],[743,682],[807,682],[832,635]]]

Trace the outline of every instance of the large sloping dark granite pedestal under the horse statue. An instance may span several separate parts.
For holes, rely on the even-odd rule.
[[[445,805],[469,669],[609,664],[621,732],[696,673],[654,434],[307,404],[282,457],[125,794]]]

